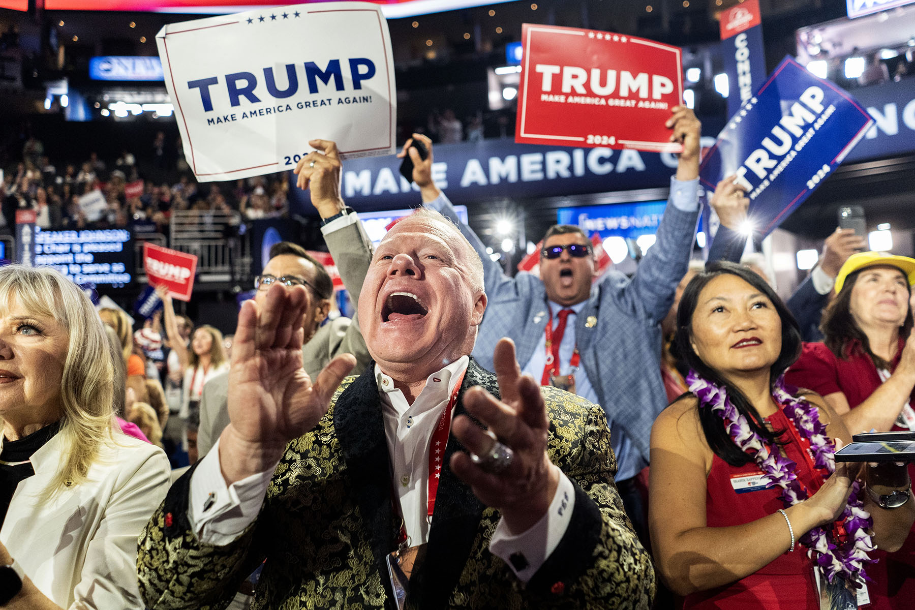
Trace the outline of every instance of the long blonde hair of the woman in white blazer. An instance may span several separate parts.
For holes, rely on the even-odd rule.
[[[0,267],[0,294],[0,309],[15,299],[30,313],[57,320],[70,337],[60,379],[62,465],[42,492],[47,500],[85,482],[102,444],[113,443],[112,355],[89,297],[57,271]]]

